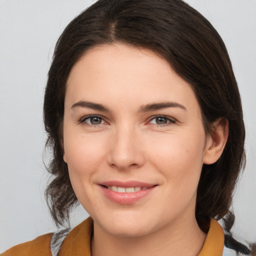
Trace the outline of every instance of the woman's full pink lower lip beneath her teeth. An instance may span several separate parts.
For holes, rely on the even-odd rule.
[[[131,193],[119,193],[113,190],[110,190],[102,185],[100,185],[104,195],[113,202],[120,203],[120,204],[132,204],[136,201],[142,199],[143,197],[147,196],[156,186],[152,186],[147,189],[141,189],[136,192]]]

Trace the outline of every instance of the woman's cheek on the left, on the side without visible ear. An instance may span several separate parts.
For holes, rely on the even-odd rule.
[[[71,134],[71,133],[69,133]],[[96,170],[101,169],[106,150],[102,139],[97,140],[91,136],[75,134],[65,136],[64,150],[68,165],[68,173],[74,193],[79,202],[90,211],[93,205],[93,177]]]

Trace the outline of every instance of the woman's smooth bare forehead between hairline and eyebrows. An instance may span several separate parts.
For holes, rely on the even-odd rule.
[[[169,63],[148,49],[114,43],[88,50],[71,69],[69,104],[90,100],[127,107],[152,101],[179,101],[198,108],[190,85]]]

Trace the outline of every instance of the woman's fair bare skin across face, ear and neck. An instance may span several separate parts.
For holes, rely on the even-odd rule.
[[[81,101],[109,111],[74,106]],[[138,111],[166,101],[183,107]],[[99,124],[91,124],[91,114]],[[228,134],[226,122],[215,124],[206,136],[190,85],[147,49],[100,45],[78,60],[66,87],[63,159],[94,220],[93,256],[198,254],[206,237],[194,214],[201,167],[218,159]],[[107,180],[157,186],[124,205],[102,193]]]

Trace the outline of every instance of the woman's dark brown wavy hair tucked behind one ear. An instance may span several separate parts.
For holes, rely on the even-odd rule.
[[[63,161],[62,120],[65,85],[75,62],[91,47],[121,42],[148,48],[166,59],[192,87],[206,133],[223,118],[229,136],[220,158],[204,164],[197,189],[195,216],[207,231],[209,218],[225,216],[244,164],[244,124],[238,87],[225,45],[212,25],[181,0],[99,0],[75,17],[59,37],[44,97],[48,166],[52,180],[46,198],[56,224],[68,221],[77,198]],[[227,231],[234,216],[229,212]]]

